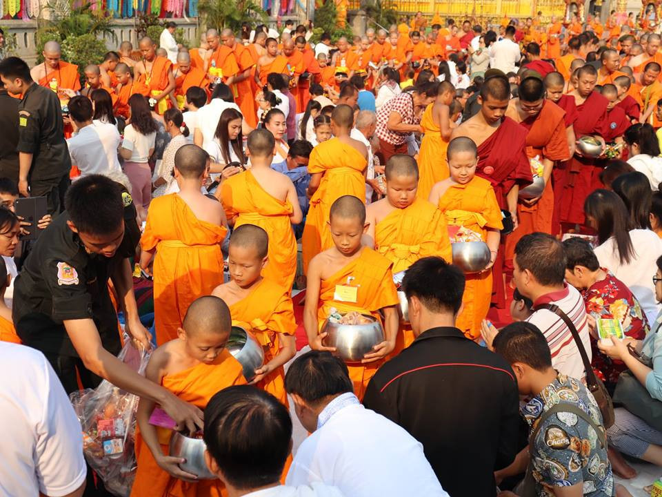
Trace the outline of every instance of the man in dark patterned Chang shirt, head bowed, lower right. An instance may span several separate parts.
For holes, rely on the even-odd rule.
[[[614,495],[600,408],[581,381],[554,369],[540,330],[530,322],[509,324],[494,339],[494,349],[510,363],[519,393],[530,399],[521,409],[531,427],[530,445],[510,467],[497,471],[499,480],[531,465],[535,495]]]

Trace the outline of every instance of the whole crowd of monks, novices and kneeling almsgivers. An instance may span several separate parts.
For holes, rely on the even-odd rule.
[[[630,495],[662,467],[661,36],[546,21],[2,59],[0,494],[108,495],[68,398],[108,380],[132,496]]]

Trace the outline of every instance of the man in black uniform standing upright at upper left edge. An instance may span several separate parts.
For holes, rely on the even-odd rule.
[[[57,215],[63,209],[71,170],[60,100],[50,88],[32,81],[28,64],[19,57],[0,61],[0,78],[9,92],[23,95],[17,116],[19,192],[24,197],[46,197],[48,213]]]

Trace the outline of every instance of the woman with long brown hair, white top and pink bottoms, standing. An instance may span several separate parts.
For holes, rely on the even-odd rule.
[[[124,128],[124,141],[119,155],[124,159],[123,170],[131,182],[136,210],[140,219],[145,220],[152,200],[152,170],[148,163],[154,153],[159,128],[143,95],[130,97],[129,119],[130,124]]]

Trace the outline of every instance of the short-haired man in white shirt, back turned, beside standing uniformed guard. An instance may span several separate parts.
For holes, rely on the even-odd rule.
[[[67,145],[71,164],[79,168],[81,177],[121,170],[117,159],[121,137],[117,127],[92,121],[92,102],[87,97],[72,97],[68,107],[74,135],[67,140]]]

